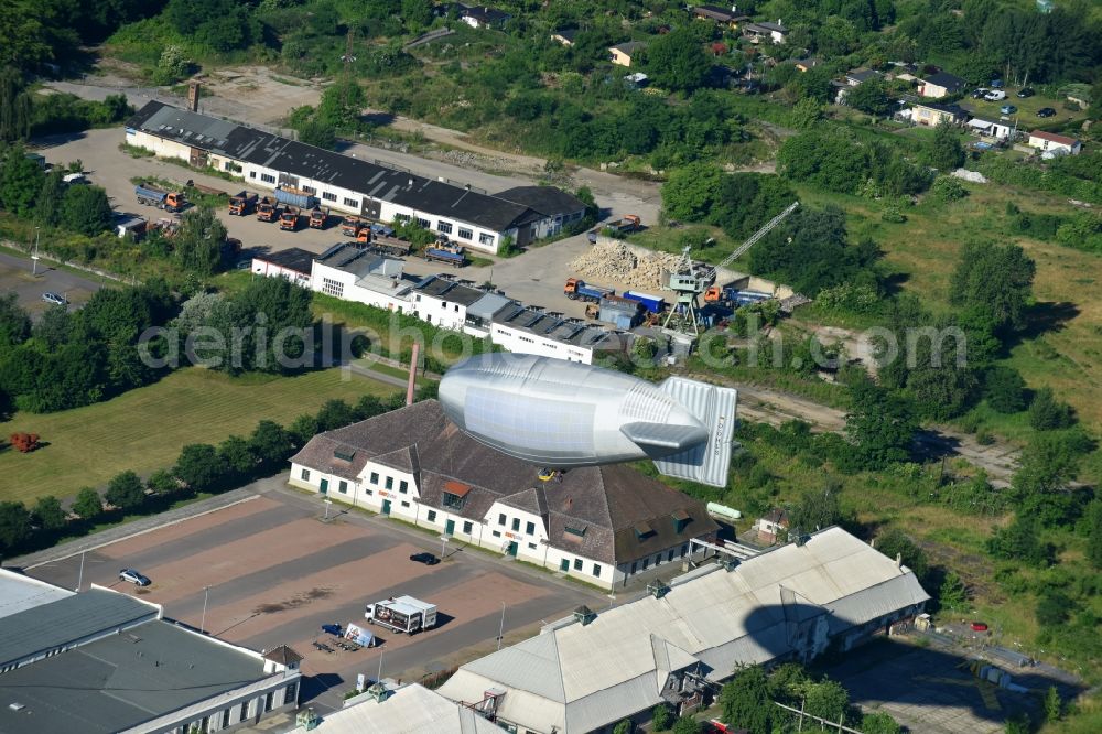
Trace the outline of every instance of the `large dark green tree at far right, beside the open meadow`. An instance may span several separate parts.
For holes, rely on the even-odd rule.
[[[950,281],[949,302],[974,311],[994,333],[1019,330],[1036,272],[1036,263],[1017,245],[968,242]]]

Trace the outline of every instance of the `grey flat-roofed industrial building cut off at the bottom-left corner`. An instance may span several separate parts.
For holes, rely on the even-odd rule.
[[[0,732],[190,734],[298,705],[302,658],[196,633],[160,605],[0,570]]]

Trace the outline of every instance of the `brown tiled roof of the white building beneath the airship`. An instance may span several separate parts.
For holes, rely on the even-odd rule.
[[[353,458],[338,458],[335,452]],[[450,511],[480,520],[501,501],[545,516],[553,548],[601,563],[630,562],[719,529],[703,504],[622,464],[573,468],[561,481],[540,482],[539,467],[469,438],[445,418],[436,400],[320,433],[291,461],[348,479],[363,473],[368,461],[417,471],[421,504],[429,507],[441,507],[443,495],[455,494],[450,487],[460,483],[469,489],[463,507]],[[679,511],[690,518],[680,531],[672,517]],[[634,528],[640,522],[653,532],[639,537]]]

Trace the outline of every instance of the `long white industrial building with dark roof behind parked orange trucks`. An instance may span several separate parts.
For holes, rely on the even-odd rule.
[[[426,179],[159,101],[148,102],[127,121],[126,142],[161,158],[230,173],[264,191],[298,188],[335,212],[377,222],[415,222],[484,252],[496,253],[506,238],[525,246],[557,234],[564,220],[581,218],[579,205],[584,216],[585,205],[569,195],[517,192],[526,201],[541,202],[541,211],[536,211],[469,185]]]

